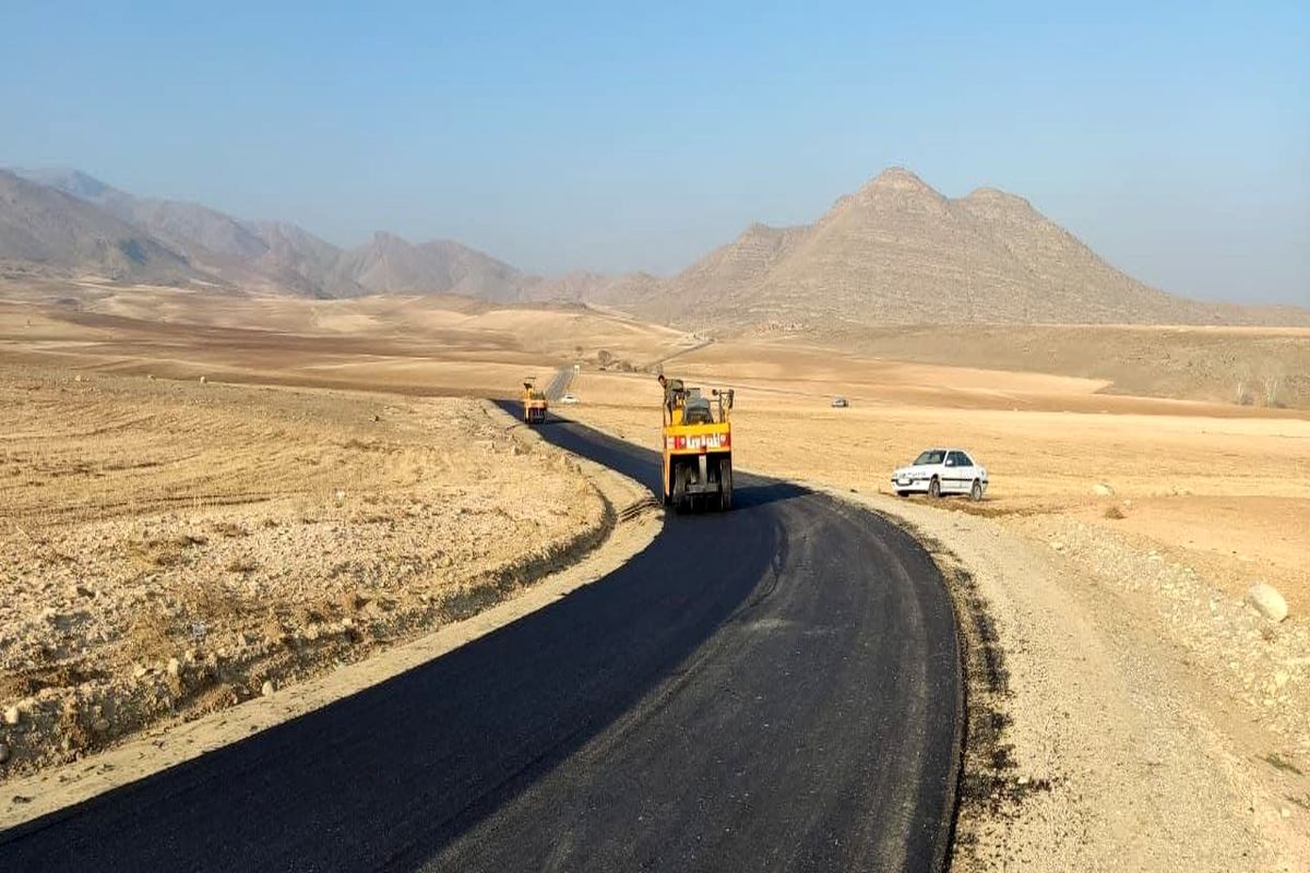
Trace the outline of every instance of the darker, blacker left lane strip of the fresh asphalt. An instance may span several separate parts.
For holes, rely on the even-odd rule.
[[[572,423],[548,438],[659,482],[654,452]],[[749,508],[803,490],[741,492]],[[423,866],[668,679],[749,599],[781,526],[748,512],[705,521],[665,525],[603,584],[441,658],[5,831],[0,869]],[[672,571],[680,555],[696,555],[698,572]]]

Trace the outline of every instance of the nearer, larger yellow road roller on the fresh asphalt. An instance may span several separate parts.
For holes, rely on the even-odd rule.
[[[732,508],[732,389],[686,387],[659,377],[664,389],[664,505]]]

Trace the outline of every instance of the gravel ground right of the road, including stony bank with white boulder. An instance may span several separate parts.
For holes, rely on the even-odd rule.
[[[1310,869],[1303,626],[1065,518],[841,496],[913,527],[973,626],[955,869]]]

